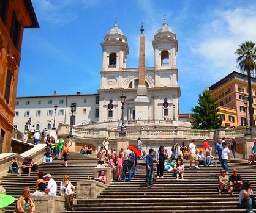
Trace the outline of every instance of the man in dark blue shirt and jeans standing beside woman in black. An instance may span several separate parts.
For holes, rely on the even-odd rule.
[[[154,187],[154,150],[149,149],[149,154],[146,156],[146,188]]]

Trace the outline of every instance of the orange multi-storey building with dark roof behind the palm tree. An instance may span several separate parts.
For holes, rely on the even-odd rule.
[[[225,78],[209,87],[211,96],[219,104],[222,126],[246,126],[249,110],[244,104],[244,96],[248,95],[248,78],[246,74],[233,71]],[[254,123],[256,120],[256,78],[252,78],[252,108]],[[249,123],[249,122],[248,122]]]

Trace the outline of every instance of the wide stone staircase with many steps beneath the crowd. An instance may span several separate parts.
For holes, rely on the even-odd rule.
[[[136,178],[132,178],[132,182],[111,182],[97,199],[77,200],[73,212],[246,212],[238,205],[238,192],[234,195],[227,193],[218,195],[218,177],[222,170],[220,165],[201,166],[200,170],[193,167],[189,170],[189,161],[184,161],[186,167],[184,181],[176,181],[173,173],[165,171],[164,178],[157,178],[155,188],[146,189],[145,159],[139,159],[138,162],[138,173]],[[63,167],[59,165],[60,163],[62,160],[54,160],[53,164],[39,165],[40,171],[45,174],[51,173],[58,187],[63,175],[69,175],[74,185],[77,180],[93,177],[97,159],[95,156],[71,153],[68,167]],[[255,189],[254,165],[248,165],[247,161],[241,158],[230,159],[229,168],[230,171],[233,168],[238,169],[242,178],[250,180]],[[26,186],[31,187],[33,191],[36,178],[36,173],[32,173],[31,177],[8,174],[1,180],[7,194],[18,198]],[[14,205],[7,207],[6,212],[13,212],[13,208]]]

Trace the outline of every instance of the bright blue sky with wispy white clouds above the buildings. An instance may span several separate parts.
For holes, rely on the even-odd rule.
[[[180,112],[198,93],[234,70],[234,52],[256,42],[254,0],[32,0],[39,29],[25,29],[17,96],[97,93],[103,37],[115,24],[127,37],[127,68],[138,67],[141,22],[146,67],[154,67],[152,40],[166,15],[178,40]]]

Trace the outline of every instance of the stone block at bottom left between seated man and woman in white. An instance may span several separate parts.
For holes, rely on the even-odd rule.
[[[65,199],[62,196],[41,195],[31,198],[36,206],[35,213],[59,213],[65,209]]]

